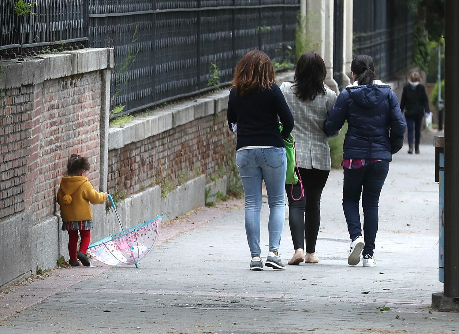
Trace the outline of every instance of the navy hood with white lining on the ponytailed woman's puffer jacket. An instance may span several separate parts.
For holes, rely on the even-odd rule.
[[[378,106],[391,92],[391,87],[381,80],[373,80],[373,84],[361,85],[355,81],[346,87],[351,99],[359,106],[374,108]]]

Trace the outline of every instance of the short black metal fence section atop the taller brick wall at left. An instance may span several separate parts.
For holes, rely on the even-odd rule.
[[[16,2],[0,1],[1,57],[87,46],[88,0],[35,0],[28,11],[15,11]]]

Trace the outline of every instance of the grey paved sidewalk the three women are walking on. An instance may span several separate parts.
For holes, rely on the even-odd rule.
[[[421,153],[394,156],[380,201],[376,268],[347,265],[337,170],[322,199],[319,264],[248,270],[244,210],[232,202],[179,222],[202,225],[163,242],[139,269],[86,269],[96,275],[9,317],[0,333],[453,333],[459,313],[429,312],[431,293],[442,290],[438,185],[433,147],[422,145]],[[261,245],[267,217],[264,204]],[[292,253],[286,220],[280,254],[286,262]]]

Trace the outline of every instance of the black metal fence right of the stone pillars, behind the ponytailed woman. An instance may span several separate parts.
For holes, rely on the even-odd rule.
[[[413,62],[414,17],[402,2],[354,0],[354,56],[372,56],[383,80]]]

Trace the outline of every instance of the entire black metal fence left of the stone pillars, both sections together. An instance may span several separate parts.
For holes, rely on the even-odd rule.
[[[254,49],[294,60],[299,0],[0,0],[0,56],[115,48],[118,115],[221,86]],[[28,4],[32,0],[25,1]],[[36,14],[36,15],[35,15]],[[218,84],[220,83],[220,84]]]

